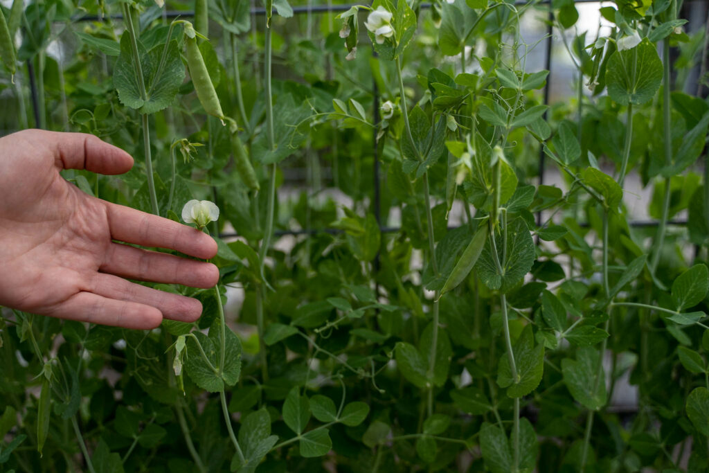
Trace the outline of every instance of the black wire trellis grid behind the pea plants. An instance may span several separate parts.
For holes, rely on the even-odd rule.
[[[686,3],[691,2],[691,1],[699,1],[699,0],[686,0]],[[574,0],[575,4],[584,4],[584,3],[600,3],[598,0]],[[525,5],[527,4],[527,1],[525,0],[515,0],[515,5]],[[306,14],[311,14],[311,13],[335,13],[335,12],[342,12],[342,11],[347,11],[349,10],[352,6],[356,5],[362,5],[362,4],[340,4],[340,5],[308,5],[308,6],[294,6],[293,7],[293,13],[294,15],[300,15],[303,13]],[[549,104],[549,84],[551,83],[552,80],[552,35],[553,35],[553,20],[554,20],[554,13],[552,11],[552,0],[540,0],[535,3],[535,5],[548,5],[548,16],[547,16],[547,37],[545,39],[545,69],[549,71],[549,75],[547,76],[547,83],[545,85],[544,89],[544,96],[543,96],[543,104],[548,105]],[[420,4],[421,9],[429,9],[432,5],[430,3],[423,3]],[[252,8],[250,11],[250,14],[253,16],[264,16],[266,14],[266,9],[264,8]],[[167,11],[164,14],[164,17],[167,18],[177,18],[177,17],[192,17],[194,16],[194,11]],[[84,16],[76,16],[72,18],[72,21],[74,22],[83,22],[83,21],[106,21],[108,18],[111,18],[113,20],[121,20],[123,19],[123,15],[120,13],[108,15],[108,16],[103,16],[99,17],[96,15],[84,15]],[[30,99],[32,101],[32,106],[33,106],[33,112],[35,115],[35,123],[39,124],[39,101],[38,101],[38,91],[37,91],[37,84],[35,83],[35,74],[33,70],[33,65],[31,60],[27,61],[27,68],[28,68],[28,75],[30,77]],[[372,87],[372,92],[373,92],[373,104],[374,104],[374,124],[378,123],[379,121],[379,102],[380,102],[380,96],[379,96],[379,89],[376,86],[376,81],[373,80],[373,87]],[[548,116],[548,111],[547,111],[547,116]],[[374,139],[372,140],[373,143],[373,156],[374,156],[374,162],[373,162],[373,184],[374,184],[374,196],[373,196],[373,211],[374,211],[374,216],[376,218],[376,223],[379,226],[379,230],[381,233],[396,233],[401,230],[401,227],[391,227],[391,226],[382,226],[381,225],[381,177],[379,176],[380,169],[379,169],[379,156],[378,156],[378,149],[376,145],[376,133],[374,133]],[[545,153],[543,150],[540,150],[540,157],[539,157],[539,164],[538,164],[538,172],[539,172],[539,177],[538,177],[538,184],[542,185],[544,184],[544,169],[545,169]],[[537,212],[537,225],[540,225],[542,223],[542,212]],[[630,221],[629,225],[634,227],[634,228],[648,228],[648,227],[654,227],[657,226],[657,221]],[[669,221],[667,222],[667,225],[669,226],[686,226],[687,221],[686,220],[674,220],[674,221]],[[581,223],[582,227],[587,227],[588,223]],[[455,226],[449,227],[450,229],[456,228]],[[302,229],[302,230],[275,230],[274,235],[276,236],[285,236],[285,235],[293,235],[293,236],[298,236],[298,235],[316,235],[318,233],[329,233],[332,235],[337,235],[342,233],[342,230],[339,230],[337,228],[320,228],[320,229]],[[220,233],[220,238],[234,238],[238,237],[239,233],[237,232],[228,232],[228,233]],[[376,260],[375,260],[375,265],[376,265]]]

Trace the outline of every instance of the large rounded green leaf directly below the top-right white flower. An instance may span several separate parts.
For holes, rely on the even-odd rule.
[[[642,105],[652,99],[662,82],[662,62],[648,40],[630,50],[616,51],[605,68],[608,95],[620,105]]]

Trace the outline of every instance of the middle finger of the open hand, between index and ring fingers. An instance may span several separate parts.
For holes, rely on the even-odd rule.
[[[219,269],[211,263],[174,255],[111,244],[106,262],[99,269],[116,276],[141,281],[210,288],[219,281]]]

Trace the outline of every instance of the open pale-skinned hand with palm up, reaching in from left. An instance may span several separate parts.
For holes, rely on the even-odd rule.
[[[25,130],[0,138],[0,306],[139,329],[163,318],[199,318],[196,299],[125,278],[209,288],[219,279],[215,265],[116,241],[201,260],[216,255],[216,242],[195,228],[89,196],[60,175],[62,169],[123,174],[131,167],[127,152],[94,135]]]

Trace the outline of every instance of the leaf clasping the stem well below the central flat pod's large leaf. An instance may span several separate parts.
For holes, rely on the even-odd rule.
[[[517,378],[513,378],[512,369],[507,355],[500,359],[497,370],[497,384],[508,388],[507,395],[511,398],[530,394],[539,386],[544,374],[544,345],[534,345],[532,325],[527,325],[513,347]]]

